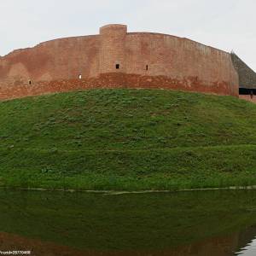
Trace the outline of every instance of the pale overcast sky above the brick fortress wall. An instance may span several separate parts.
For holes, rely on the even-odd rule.
[[[255,0],[0,0],[0,55],[109,23],[230,51],[256,71]]]

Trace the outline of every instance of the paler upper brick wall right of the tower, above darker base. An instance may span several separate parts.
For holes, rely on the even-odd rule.
[[[126,49],[127,73],[179,80],[193,77],[206,86],[226,82],[234,88],[231,94],[238,93],[238,75],[230,54],[224,51],[186,38],[154,33],[128,34]]]

